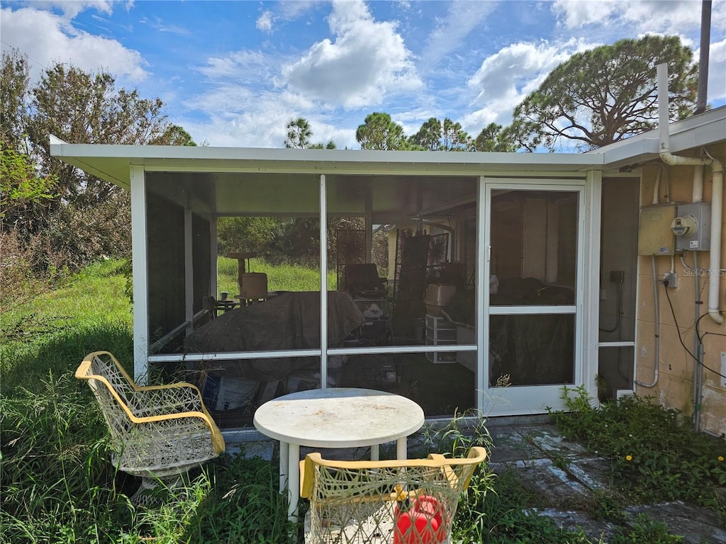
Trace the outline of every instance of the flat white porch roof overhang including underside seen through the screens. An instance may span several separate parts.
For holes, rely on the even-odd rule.
[[[126,189],[141,165],[150,191],[202,215],[314,215],[325,174],[331,215],[368,211],[383,223],[474,202],[479,176],[584,178],[603,168],[602,154],[125,146],[53,136],[51,153]]]

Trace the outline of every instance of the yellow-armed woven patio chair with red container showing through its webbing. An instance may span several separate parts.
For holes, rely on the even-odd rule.
[[[306,544],[448,543],[460,495],[486,450],[403,461],[301,461]]]

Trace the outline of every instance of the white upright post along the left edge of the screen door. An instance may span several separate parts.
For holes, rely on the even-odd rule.
[[[484,411],[486,403],[486,389],[489,387],[489,318],[484,315],[489,302],[489,264],[490,264],[490,236],[486,226],[486,185],[484,176],[478,180],[478,200],[476,207],[476,408]],[[486,297],[486,301],[484,300]],[[487,364],[484,361],[487,360]]]

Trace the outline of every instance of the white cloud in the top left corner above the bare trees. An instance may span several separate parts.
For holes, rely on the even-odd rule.
[[[41,70],[57,62],[68,62],[90,72],[107,70],[132,82],[147,76],[138,51],[77,30],[63,17],[33,8],[2,9],[1,15],[2,50],[16,48],[27,54],[34,81]]]

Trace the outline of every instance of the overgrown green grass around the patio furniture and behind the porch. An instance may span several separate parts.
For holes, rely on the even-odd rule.
[[[234,292],[236,267],[236,261],[220,259],[220,290]],[[254,261],[252,269],[268,274],[270,289],[317,290],[315,271]],[[332,288],[334,277],[329,281]],[[78,363],[93,350],[131,360],[131,307],[124,288],[121,263],[106,261],[0,315],[0,543],[290,542],[301,527],[287,522],[285,496],[277,493],[277,463],[260,458],[225,454],[190,472],[164,506],[131,505],[138,481],[108,462],[105,422],[89,387],[73,379]],[[570,421],[574,437],[578,416],[568,417],[560,420]],[[594,426],[595,434],[602,430],[594,416],[578,421]],[[457,421],[426,429],[422,455],[460,455],[470,445],[491,444],[484,420],[466,433]],[[603,496],[600,504],[609,500],[616,512],[622,505],[613,496]],[[531,509],[537,501],[514,472],[494,477],[480,470],[460,502],[453,541],[591,542],[537,515]],[[642,535],[652,543],[677,541],[643,520],[623,527],[618,544],[646,541]]]

